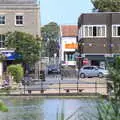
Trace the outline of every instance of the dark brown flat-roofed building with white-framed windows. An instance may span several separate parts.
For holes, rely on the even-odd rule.
[[[78,42],[83,59],[105,67],[106,60],[120,55],[120,13],[82,14],[78,19]]]

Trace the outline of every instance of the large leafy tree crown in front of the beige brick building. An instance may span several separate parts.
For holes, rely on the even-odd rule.
[[[24,63],[34,64],[39,60],[40,43],[38,38],[24,32],[7,33],[7,48],[14,48],[21,55],[20,60]]]

